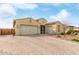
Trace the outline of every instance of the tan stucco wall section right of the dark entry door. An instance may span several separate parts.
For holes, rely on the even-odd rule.
[[[60,25],[60,32],[58,32],[58,25]],[[66,26],[61,23],[49,24],[46,27],[46,33],[48,34],[63,33],[65,31],[64,28],[66,28]]]

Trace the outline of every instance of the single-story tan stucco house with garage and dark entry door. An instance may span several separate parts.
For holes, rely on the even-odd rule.
[[[30,34],[59,34],[67,31],[69,26],[55,21],[48,23],[44,18],[34,20],[32,18],[16,19],[13,22],[15,35],[30,35]]]

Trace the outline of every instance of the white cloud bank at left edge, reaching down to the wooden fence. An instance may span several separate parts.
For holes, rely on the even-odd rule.
[[[12,28],[16,9],[11,4],[0,4],[0,28]]]

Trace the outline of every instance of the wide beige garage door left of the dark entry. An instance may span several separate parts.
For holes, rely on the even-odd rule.
[[[21,26],[21,35],[27,35],[27,34],[37,34],[38,33],[38,27],[37,26],[29,26],[29,25],[22,25]]]

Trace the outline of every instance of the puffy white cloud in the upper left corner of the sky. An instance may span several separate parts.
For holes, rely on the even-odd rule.
[[[16,15],[16,10],[14,9],[14,7],[10,4],[2,4],[0,5],[0,14],[1,15]]]

